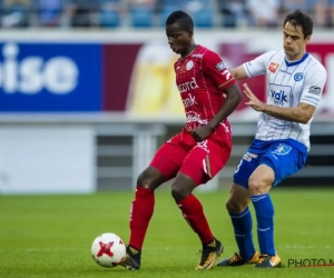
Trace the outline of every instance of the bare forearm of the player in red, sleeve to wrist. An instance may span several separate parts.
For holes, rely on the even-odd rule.
[[[225,120],[237,108],[243,99],[239,87],[236,83],[224,89],[224,93],[226,95],[224,105],[220,107],[216,116],[208,122],[208,126],[213,129],[217,127],[219,122]]]

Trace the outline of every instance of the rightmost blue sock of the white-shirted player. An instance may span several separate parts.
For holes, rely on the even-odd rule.
[[[252,196],[252,202],[256,212],[257,238],[259,251],[275,256],[274,247],[274,206],[268,193]]]

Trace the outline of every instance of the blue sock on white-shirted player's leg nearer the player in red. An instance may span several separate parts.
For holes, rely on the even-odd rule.
[[[243,212],[234,215],[229,214],[234,227],[235,240],[239,248],[239,254],[243,259],[248,260],[255,252],[252,236],[252,215],[247,207]]]

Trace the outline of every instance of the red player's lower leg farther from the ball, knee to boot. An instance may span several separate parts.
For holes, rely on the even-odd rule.
[[[191,193],[197,187],[195,181],[184,175],[178,173],[171,187],[171,195],[183,212],[183,217],[191,229],[198,235],[202,245],[202,258],[196,269],[212,269],[217,257],[223,252],[223,245],[217,240],[209,228],[204,215],[200,201]]]

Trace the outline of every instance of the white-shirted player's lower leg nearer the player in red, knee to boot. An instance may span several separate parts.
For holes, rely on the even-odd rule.
[[[234,256],[220,260],[217,264],[218,267],[252,265],[256,264],[259,259],[259,254],[255,251],[252,239],[249,201],[249,191],[234,183],[230,188],[226,208],[234,226],[235,239],[239,250]]]

